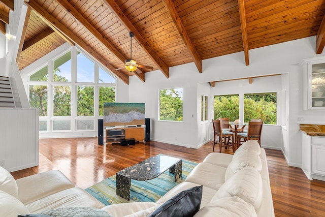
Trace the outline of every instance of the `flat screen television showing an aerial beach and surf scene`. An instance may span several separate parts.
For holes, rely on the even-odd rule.
[[[104,103],[104,126],[145,125],[145,103]]]

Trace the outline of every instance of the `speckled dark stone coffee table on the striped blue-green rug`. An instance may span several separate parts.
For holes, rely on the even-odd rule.
[[[130,200],[131,179],[144,181],[158,177],[167,169],[175,174],[175,181],[182,177],[182,159],[157,155],[116,173],[116,195]]]

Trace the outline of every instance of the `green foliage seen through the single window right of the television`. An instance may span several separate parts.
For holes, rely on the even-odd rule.
[[[183,88],[160,90],[160,120],[183,121]]]

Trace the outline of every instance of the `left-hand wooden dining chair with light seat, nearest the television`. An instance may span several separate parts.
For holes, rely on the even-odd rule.
[[[221,128],[221,121],[220,120],[212,120],[213,124],[213,151],[214,151],[214,145],[217,143],[220,145],[220,153],[222,146],[229,147],[231,146],[233,148],[233,151],[235,151],[235,142],[234,142],[234,133],[226,130],[222,130]],[[219,139],[216,142],[215,137],[218,136]],[[228,141],[227,141],[228,139]],[[230,143],[230,139],[232,142]]]

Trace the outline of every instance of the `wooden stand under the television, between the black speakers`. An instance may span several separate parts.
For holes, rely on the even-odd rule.
[[[121,139],[132,139],[144,142],[144,127],[106,128],[106,144],[120,143]]]

